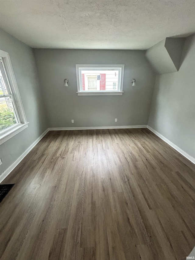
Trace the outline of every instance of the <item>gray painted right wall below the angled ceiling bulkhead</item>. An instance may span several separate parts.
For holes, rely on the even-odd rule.
[[[195,158],[195,34],[178,72],[157,75],[148,125]]]

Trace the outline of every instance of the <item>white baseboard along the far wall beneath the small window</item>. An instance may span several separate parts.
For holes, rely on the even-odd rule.
[[[92,126],[92,127],[53,127],[49,131],[55,130],[90,130],[90,129],[123,129],[123,128],[147,128],[147,125],[140,126]]]

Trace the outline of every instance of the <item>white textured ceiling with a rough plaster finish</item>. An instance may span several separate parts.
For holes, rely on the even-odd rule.
[[[0,15],[34,48],[147,49],[195,32],[195,0],[0,0]]]

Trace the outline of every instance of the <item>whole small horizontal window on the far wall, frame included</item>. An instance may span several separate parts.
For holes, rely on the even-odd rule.
[[[124,66],[76,64],[78,95],[122,95]]]

